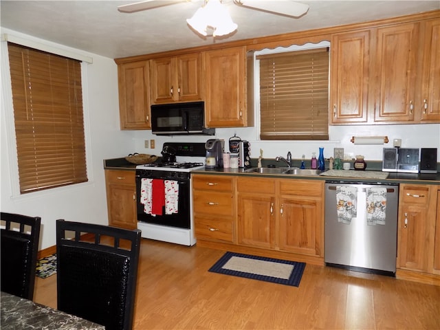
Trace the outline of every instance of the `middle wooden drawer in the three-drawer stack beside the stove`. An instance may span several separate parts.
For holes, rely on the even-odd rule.
[[[196,190],[193,195],[194,212],[232,216],[231,192],[206,192]]]

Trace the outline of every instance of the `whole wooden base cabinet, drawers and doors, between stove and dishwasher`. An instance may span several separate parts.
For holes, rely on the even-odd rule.
[[[324,181],[192,175],[197,244],[324,264]]]

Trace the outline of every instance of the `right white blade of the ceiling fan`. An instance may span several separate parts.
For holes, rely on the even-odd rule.
[[[309,5],[292,0],[234,0],[234,3],[246,8],[289,17],[303,16],[309,10]]]

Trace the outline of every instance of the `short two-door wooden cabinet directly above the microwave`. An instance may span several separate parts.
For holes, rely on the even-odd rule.
[[[150,61],[151,103],[201,100],[201,53]]]

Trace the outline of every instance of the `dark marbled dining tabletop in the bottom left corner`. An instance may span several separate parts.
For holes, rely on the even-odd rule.
[[[105,327],[32,300],[1,292],[1,330],[104,330]]]

